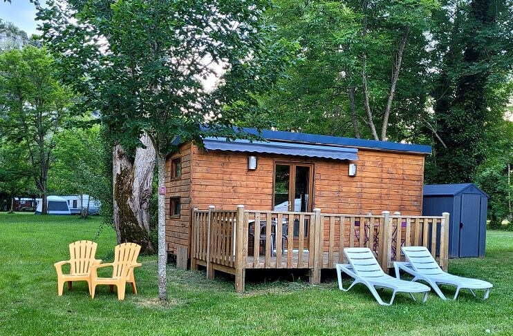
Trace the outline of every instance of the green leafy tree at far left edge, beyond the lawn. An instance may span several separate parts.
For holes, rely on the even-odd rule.
[[[48,170],[53,164],[54,136],[68,118],[72,95],[55,72],[46,49],[26,46],[0,54],[0,133],[28,150],[33,180],[46,214]]]

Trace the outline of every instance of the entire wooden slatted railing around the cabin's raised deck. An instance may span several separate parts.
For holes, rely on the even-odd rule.
[[[241,223],[242,225],[238,225]],[[346,263],[344,248],[368,247],[384,270],[404,260],[401,246],[426,246],[447,270],[449,214],[440,217],[324,214],[265,210],[236,211],[194,208],[192,266],[203,263],[236,275],[243,290],[245,269],[308,268],[310,281],[320,281],[322,268]]]

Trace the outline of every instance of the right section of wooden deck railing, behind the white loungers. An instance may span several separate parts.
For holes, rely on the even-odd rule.
[[[425,246],[440,267],[447,270],[449,214],[436,216],[322,214],[320,226],[322,250],[317,251],[321,268],[346,263],[344,248],[368,247],[383,270],[393,261],[404,261],[401,246]],[[399,224],[399,225],[398,225]],[[434,239],[433,239],[434,237]]]

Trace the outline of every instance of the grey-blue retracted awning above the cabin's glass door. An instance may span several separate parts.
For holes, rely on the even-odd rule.
[[[253,141],[237,139],[226,141],[225,138],[205,138],[207,150],[229,150],[232,152],[257,152],[280,155],[296,155],[300,157],[322,157],[337,160],[357,160],[357,148],[297,144],[278,141]]]

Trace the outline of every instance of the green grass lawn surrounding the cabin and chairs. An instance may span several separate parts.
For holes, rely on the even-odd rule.
[[[451,273],[494,284],[485,302],[467,293],[443,302],[431,292],[426,304],[399,295],[383,307],[364,286],[343,293],[335,279],[253,282],[239,295],[229,277],[168,266],[163,305],[156,257],[140,257],[140,295],[127,288],[124,302],[108,286],[91,299],[85,282],[57,297],[53,263],[68,259],[71,241],[96,237],[97,257],[111,259],[115,233],[99,228],[98,218],[0,213],[0,335],[513,335],[511,232],[488,232],[484,259],[449,262]]]

